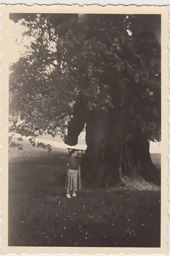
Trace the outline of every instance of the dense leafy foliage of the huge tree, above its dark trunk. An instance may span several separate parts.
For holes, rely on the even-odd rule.
[[[160,140],[159,15],[22,15],[11,18],[34,40],[11,66],[11,131],[64,137],[86,95],[88,111],[119,113],[127,136],[140,129]]]

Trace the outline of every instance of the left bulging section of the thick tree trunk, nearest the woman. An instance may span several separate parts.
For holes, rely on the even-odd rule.
[[[112,186],[121,180],[121,140],[118,125],[109,114],[93,112],[86,124],[87,150],[82,159],[82,180],[86,186]]]

